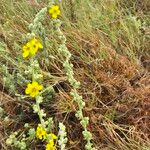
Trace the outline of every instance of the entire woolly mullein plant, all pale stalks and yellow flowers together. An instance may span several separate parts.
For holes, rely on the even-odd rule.
[[[55,150],[55,140],[58,139],[58,145],[61,150],[65,150],[65,146],[67,143],[67,133],[66,128],[63,123],[59,123],[59,132],[57,137],[54,133],[52,133],[53,128],[53,119],[46,118],[46,114],[44,110],[40,108],[40,104],[43,102],[44,97],[42,96],[45,91],[45,87],[41,84],[43,80],[43,75],[41,74],[40,66],[38,60],[36,58],[36,54],[42,50],[46,49],[46,36],[45,29],[42,26],[42,21],[45,18],[46,13],[49,12],[51,16],[51,22],[54,25],[54,30],[59,39],[59,53],[65,58],[63,66],[66,71],[66,75],[69,83],[72,86],[72,90],[70,92],[73,100],[78,104],[78,110],[76,112],[76,117],[80,120],[80,123],[84,129],[83,136],[87,141],[85,145],[86,150],[95,150],[93,144],[91,143],[92,135],[87,130],[87,126],[89,123],[89,118],[83,116],[83,108],[85,103],[83,102],[82,96],[80,96],[77,92],[80,87],[80,82],[76,81],[74,78],[73,72],[73,64],[70,62],[71,53],[66,47],[66,37],[60,30],[61,21],[58,19],[60,15],[60,9],[58,5],[55,5],[53,1],[49,2],[48,8],[43,8],[35,17],[33,24],[30,24],[29,29],[31,33],[27,34],[28,41],[22,47],[22,57],[24,59],[29,59],[30,63],[27,69],[25,70],[25,74],[28,75],[28,78],[31,76],[32,80],[29,82],[25,89],[25,94],[35,100],[33,104],[33,110],[38,114],[40,123],[37,125],[36,130],[31,128],[28,124],[25,124],[25,127],[28,129],[28,135],[23,134],[23,138],[18,140],[18,132],[14,132],[7,139],[6,143],[8,145],[14,146],[21,150],[26,150],[27,145],[32,141],[35,137],[39,140],[46,142],[45,150]],[[51,89],[51,88],[48,88]]]

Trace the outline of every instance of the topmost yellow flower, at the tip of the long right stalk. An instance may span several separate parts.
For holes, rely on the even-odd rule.
[[[60,9],[57,5],[52,5],[51,8],[49,8],[48,12],[52,16],[52,18],[56,19],[60,15]]]

